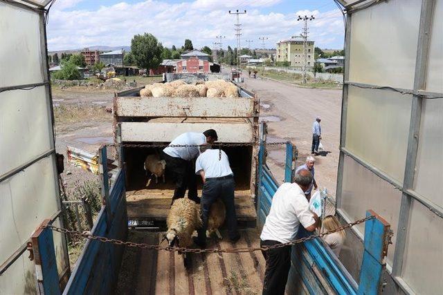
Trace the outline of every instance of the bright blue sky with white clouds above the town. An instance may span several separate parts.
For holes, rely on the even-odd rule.
[[[308,21],[309,39],[320,48],[343,48],[343,17],[333,0],[55,0],[48,18],[48,50],[88,46],[130,46],[136,34],[149,32],[166,47],[180,47],[191,39],[195,48],[236,47],[235,15],[246,10],[241,47],[264,47],[301,33],[298,15]],[[247,43],[245,40],[252,40]]]

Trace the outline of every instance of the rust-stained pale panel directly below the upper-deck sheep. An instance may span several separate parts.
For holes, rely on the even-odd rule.
[[[253,117],[249,97],[115,97],[118,117]]]

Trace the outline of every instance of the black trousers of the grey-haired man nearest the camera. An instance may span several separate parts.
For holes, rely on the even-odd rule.
[[[260,247],[280,244],[276,240],[260,240]],[[266,260],[263,294],[284,294],[291,268],[291,246],[262,251]]]

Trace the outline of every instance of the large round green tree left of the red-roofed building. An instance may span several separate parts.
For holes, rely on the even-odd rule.
[[[131,53],[138,68],[158,68],[161,64],[163,46],[154,35],[134,35],[131,40]]]

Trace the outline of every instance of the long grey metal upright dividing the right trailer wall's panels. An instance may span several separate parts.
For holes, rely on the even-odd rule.
[[[414,92],[424,89],[426,84],[426,69],[428,66],[429,41],[431,39],[431,26],[433,20],[433,8],[435,0],[422,1],[422,11],[420,12],[420,26],[417,42],[417,58],[415,62]],[[417,161],[417,150],[420,133],[420,121],[422,117],[423,98],[413,95],[413,104],[410,113],[410,126],[408,135],[408,149],[406,151],[406,166],[404,171],[403,191],[413,189],[415,178],[415,165]],[[404,252],[406,248],[406,238],[408,236],[408,223],[410,207],[413,198],[407,193],[402,193],[397,240],[395,242],[395,255],[392,265],[392,276],[400,276],[403,267]]]

